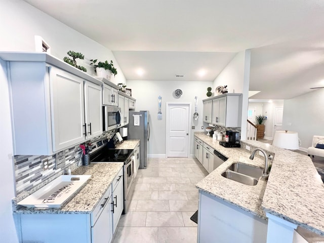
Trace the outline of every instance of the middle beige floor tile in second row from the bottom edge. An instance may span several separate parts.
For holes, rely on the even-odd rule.
[[[145,226],[184,226],[181,212],[147,212]]]

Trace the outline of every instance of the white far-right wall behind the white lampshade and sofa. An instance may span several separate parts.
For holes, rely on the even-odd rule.
[[[313,135],[324,136],[324,89],[285,100],[282,130],[298,132],[301,149],[311,146]],[[288,125],[291,123],[292,125]]]

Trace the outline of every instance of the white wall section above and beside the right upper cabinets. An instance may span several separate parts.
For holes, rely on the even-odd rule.
[[[213,82],[213,92],[216,87],[227,85],[228,93],[242,93],[242,119],[241,139],[246,138],[249,83],[250,83],[251,50],[245,50],[236,56],[226,65]]]

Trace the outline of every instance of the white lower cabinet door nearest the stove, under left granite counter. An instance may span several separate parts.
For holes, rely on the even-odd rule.
[[[123,179],[123,178],[122,178]],[[124,210],[124,187],[123,180],[119,180],[115,190],[112,192],[112,234],[115,233],[121,213]]]

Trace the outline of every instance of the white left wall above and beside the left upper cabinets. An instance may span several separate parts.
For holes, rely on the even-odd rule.
[[[83,53],[85,60],[77,61],[77,63],[85,66],[88,73],[93,76],[96,74],[89,66],[89,59],[113,60],[118,71],[114,83],[126,83],[110,50],[21,0],[1,1],[0,33],[0,51],[34,52],[34,35],[41,35],[51,46],[51,54],[59,59],[67,56],[66,52],[69,50]],[[8,84],[5,62],[1,59],[0,61],[0,161],[2,164],[0,170],[0,241],[18,242],[11,208],[11,199],[14,197],[14,173],[11,158],[13,149]]]

